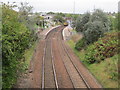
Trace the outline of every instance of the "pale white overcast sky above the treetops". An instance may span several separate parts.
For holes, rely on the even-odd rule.
[[[29,2],[34,12],[64,12],[85,13],[93,9],[102,9],[105,12],[117,12],[119,0],[3,0],[3,2]]]

